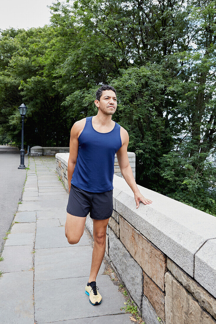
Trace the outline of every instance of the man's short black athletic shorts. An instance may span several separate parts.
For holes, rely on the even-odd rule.
[[[71,183],[67,213],[92,219],[107,219],[113,214],[113,189],[105,192],[90,192]]]

